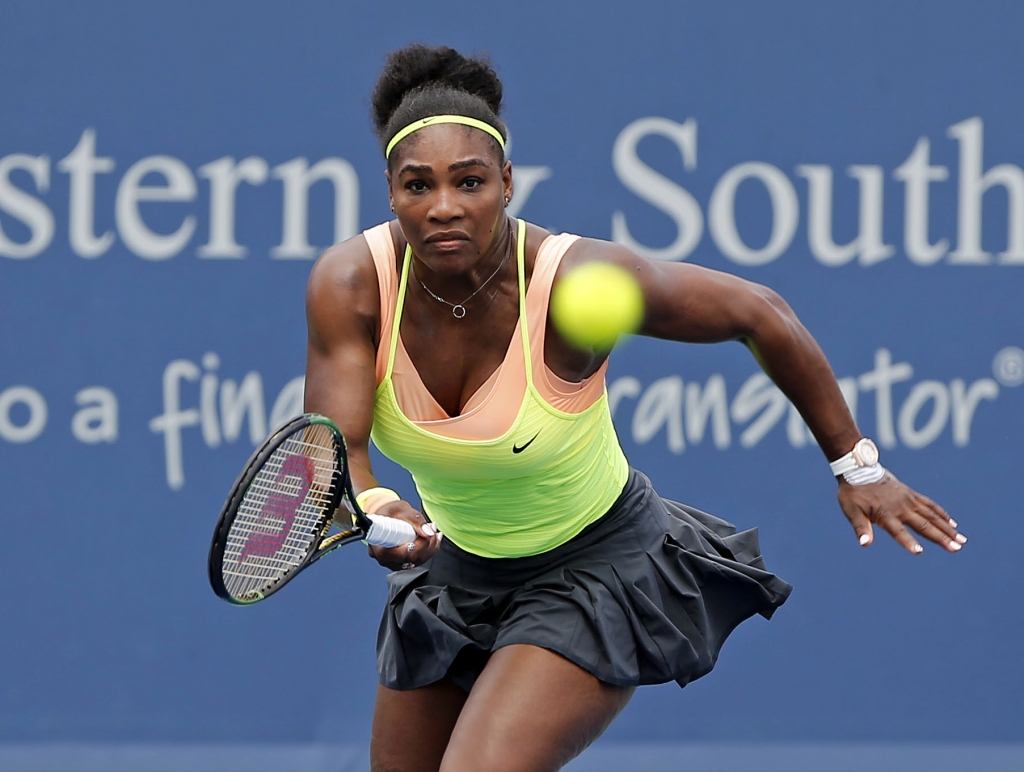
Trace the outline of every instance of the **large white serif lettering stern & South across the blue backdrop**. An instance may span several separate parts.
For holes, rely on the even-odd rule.
[[[920,137],[910,155],[892,172],[904,185],[903,249],[907,259],[919,266],[933,266],[943,258],[953,264],[1024,265],[1024,169],[998,164],[985,170],[984,122],[980,117],[949,126],[946,134],[959,148],[956,248],[950,251],[949,238],[931,241],[932,186],[947,180],[949,170],[932,165],[930,140]],[[611,239],[651,259],[685,260],[701,242],[705,212],[682,184],[641,160],[640,151],[646,147],[641,144],[648,138],[654,142],[668,139],[679,152],[685,175],[697,167],[697,122],[689,118],[678,123],[656,116],[638,119],[618,133],[611,153],[613,170],[623,185],[670,218],[675,235],[664,247],[642,244],[631,231],[626,212],[616,210],[611,214]],[[242,160],[223,156],[195,172],[171,156],[143,158],[121,178],[115,199],[116,227],[104,228],[103,218],[96,212],[97,180],[117,166],[114,158],[97,155],[97,132],[92,127],[82,131],[71,153],[56,164],[56,169],[70,177],[69,242],[80,257],[91,259],[108,253],[119,234],[129,251],[147,260],[166,260],[179,254],[196,235],[197,216],[187,212],[175,215],[170,207],[155,212],[146,205],[195,201],[196,175],[210,183],[208,238],[196,250],[201,258],[241,259],[249,253],[250,247],[240,243],[236,232],[240,226],[239,198],[245,195],[240,188],[243,184],[263,185],[270,177],[283,183],[282,237],[269,250],[272,258],[312,259],[322,251],[309,241],[313,226],[310,196],[319,196],[312,188],[321,181],[333,187],[333,241],[351,238],[358,230],[359,180],[351,164],[341,158],[323,159],[312,166],[307,159],[296,158],[270,169],[258,156]],[[853,165],[846,173],[858,182],[857,230],[852,239],[844,237],[837,242],[834,167],[796,166],[796,175],[808,181],[808,245],[814,259],[823,265],[841,266],[857,260],[871,266],[895,254],[894,247],[885,243],[884,170],[878,165]],[[516,167],[516,195],[508,213],[518,216],[537,186],[551,177],[550,166]],[[760,247],[748,243],[762,239],[752,238],[748,231],[752,213],[737,211],[737,207],[750,208],[748,188],[740,189],[748,180],[764,186],[770,208],[764,210],[771,217],[770,231]],[[35,190],[31,189],[33,184]],[[0,219],[0,256],[33,258],[52,243],[56,223],[46,203],[49,187],[49,156],[0,158],[0,216],[4,218]],[[995,257],[982,244],[983,237],[988,239],[983,233],[983,204],[985,194],[993,187],[1004,188],[1008,203],[1007,246]],[[801,216],[793,181],[777,167],[760,161],[738,164],[722,174],[707,209],[708,228],[722,255],[749,267],[780,257],[792,245]],[[5,224],[8,232],[4,232]]]

